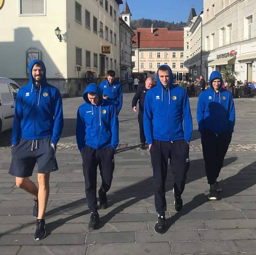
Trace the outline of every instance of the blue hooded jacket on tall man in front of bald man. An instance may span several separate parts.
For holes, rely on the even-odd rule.
[[[153,140],[190,141],[192,135],[192,116],[186,91],[173,85],[172,70],[169,70],[169,84],[165,89],[156,74],[157,86],[151,88],[144,103],[144,131],[148,144]]]

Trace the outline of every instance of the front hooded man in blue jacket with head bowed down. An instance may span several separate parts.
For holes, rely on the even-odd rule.
[[[113,102],[104,100],[96,83],[89,84],[83,94],[85,103],[77,111],[76,141],[83,159],[85,194],[91,218],[89,229],[99,222],[96,183],[99,165],[102,184],[100,208],[107,208],[107,195],[115,168],[114,152],[118,145],[118,118]]]

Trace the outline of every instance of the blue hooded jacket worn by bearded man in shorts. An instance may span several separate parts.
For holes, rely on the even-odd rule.
[[[35,87],[32,68],[43,67],[43,78]],[[60,91],[47,83],[44,62],[35,59],[29,65],[29,83],[17,93],[12,127],[12,145],[20,138],[37,140],[51,136],[56,145],[63,128],[62,99]]]

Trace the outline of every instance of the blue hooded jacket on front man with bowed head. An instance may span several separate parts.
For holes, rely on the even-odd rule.
[[[100,97],[98,105],[92,105],[88,92]],[[118,145],[118,118],[113,102],[103,100],[100,87],[96,83],[89,84],[83,94],[85,103],[77,111],[76,142],[80,152],[88,145],[94,149]]]

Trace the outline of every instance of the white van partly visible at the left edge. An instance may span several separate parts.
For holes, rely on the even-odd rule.
[[[0,133],[11,129],[15,100],[20,86],[13,80],[0,77]]]

